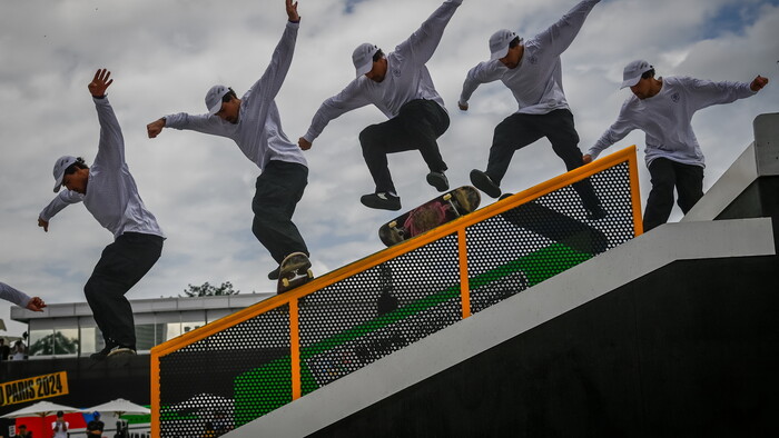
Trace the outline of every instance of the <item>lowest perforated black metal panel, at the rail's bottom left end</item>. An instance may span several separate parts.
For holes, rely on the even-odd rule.
[[[288,404],[289,357],[288,305],[161,357],[161,435],[199,437],[205,421],[235,428]]]

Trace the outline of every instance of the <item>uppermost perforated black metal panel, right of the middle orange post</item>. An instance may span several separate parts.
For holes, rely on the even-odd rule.
[[[588,220],[566,186],[466,229],[472,312],[634,237],[628,163],[590,181],[605,218]]]

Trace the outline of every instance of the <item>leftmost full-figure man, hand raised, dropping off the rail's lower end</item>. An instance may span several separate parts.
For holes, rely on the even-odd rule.
[[[165,235],[157,219],[144,206],[135,179],[125,162],[125,140],[119,121],[106,97],[114,82],[106,69],[89,83],[100,122],[98,153],[92,167],[82,158],[65,156],[55,162],[55,193],[59,195],[40,212],[38,226],[49,231],[51,218],[71,203],[83,206],[114,235],[95,271],[83,287],[87,302],[102,332],[106,347],[95,360],[120,354],[136,354],[136,332],[130,302],[125,298],[157,262]],[[67,190],[60,191],[65,186]]]

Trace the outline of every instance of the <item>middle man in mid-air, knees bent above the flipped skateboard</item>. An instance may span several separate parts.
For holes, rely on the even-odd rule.
[[[359,44],[352,53],[357,78],[322,103],[308,132],[298,140],[300,149],[308,150],[331,120],[368,103],[376,106],[389,120],[359,133],[363,157],[376,185],[374,193],[359,199],[366,207],[401,209],[387,153],[418,149],[430,168],[427,182],[438,191],[448,189],[446,163],[436,139],[446,131],[450,119],[425,64],[462,2],[444,1],[416,32],[386,56],[372,43]]]

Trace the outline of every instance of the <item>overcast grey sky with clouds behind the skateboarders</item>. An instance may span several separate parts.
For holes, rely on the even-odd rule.
[[[389,52],[440,4],[438,0],[300,0],[300,31],[292,69],[276,101],[284,130],[296,141],[321,102],[354,78],[352,50],[373,42]],[[495,125],[516,110],[502,83],[482,86],[469,112],[456,102],[466,71],[489,58],[487,39],[509,28],[530,38],[574,6],[573,0],[465,0],[427,63],[451,116],[438,140],[452,187],[486,167]],[[45,233],[40,210],[52,199],[53,161],[97,152],[98,122],[87,83],[111,70],[109,99],[124,129],[127,162],[147,208],[166,232],[161,259],[131,299],[177,296],[188,283],[231,281],[241,292],[272,291],[274,261],[250,231],[259,170],[231,141],[146,125],[164,115],[205,111],[215,83],[238,94],[263,73],[286,22],[283,0],[24,0],[0,13],[0,281],[48,302],[83,301],[83,283],[112,236],[82,205],[55,217]],[[700,111],[693,128],[707,157],[711,187],[752,141],[751,122],[779,110],[779,0],[604,0],[562,56],[563,83],[585,151],[617,117],[629,90],[622,68],[647,59],[659,76],[772,83],[757,96]],[[334,120],[306,153],[309,183],[294,220],[316,275],[383,249],[377,229],[396,216],[371,210],[359,197],[373,181],[357,136],[384,121],[374,107]],[[649,178],[639,146],[642,200]],[[389,156],[403,209],[436,195],[418,152]],[[564,172],[541,140],[512,161],[504,191],[516,192]],[[484,197],[489,203],[492,200]],[[484,199],[483,198],[483,199]],[[674,210],[672,220],[680,212]],[[9,322],[9,305],[0,302]],[[20,325],[9,325],[19,335]]]

